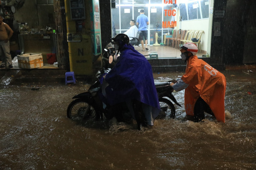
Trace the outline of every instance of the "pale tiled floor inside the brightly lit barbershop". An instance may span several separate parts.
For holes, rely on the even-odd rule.
[[[145,45],[144,45],[145,47]],[[157,52],[158,54],[158,58],[181,58],[180,57],[180,50],[179,49],[175,49],[172,47],[168,47],[168,46],[153,46],[150,45],[148,46],[148,51],[142,51],[142,46],[139,45],[138,46],[134,46],[134,49],[136,49],[138,52],[142,53],[143,55],[149,55],[151,53],[155,53]],[[197,56],[202,57],[202,53],[198,53]],[[145,56],[146,58],[149,58],[149,56]]]

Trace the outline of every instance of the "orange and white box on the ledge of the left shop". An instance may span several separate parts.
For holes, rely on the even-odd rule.
[[[17,55],[17,59],[20,68],[32,69],[44,66],[42,54],[29,53]]]

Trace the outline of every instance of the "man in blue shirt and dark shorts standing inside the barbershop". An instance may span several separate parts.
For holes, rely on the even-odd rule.
[[[137,17],[137,25],[139,25],[139,31],[140,31],[140,43],[142,45],[142,51],[148,50],[148,17],[144,15],[144,10],[140,10],[140,16]],[[144,41],[146,47],[144,48]]]

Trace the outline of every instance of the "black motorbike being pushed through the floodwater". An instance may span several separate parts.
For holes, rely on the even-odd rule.
[[[108,46],[108,45],[107,45]],[[100,78],[105,73],[108,73],[113,65],[109,64],[109,60],[112,60],[112,56],[115,55],[115,51],[110,49],[105,49],[105,53],[102,57],[102,66],[103,68],[96,73],[96,82],[90,86],[87,92],[80,93],[74,96],[74,99],[68,106],[67,117],[70,119],[86,120],[86,119],[112,119],[112,117],[118,117],[118,115],[129,115],[126,114],[129,112],[128,107],[125,103],[120,103],[118,115],[112,113],[110,107],[104,107],[102,101],[100,100],[99,94],[101,92],[101,82]],[[116,60],[115,60],[116,61]],[[115,62],[113,60],[113,62]],[[170,101],[172,100],[176,105],[180,106],[176,101],[175,97],[172,95],[173,88],[170,86],[171,81],[169,82],[155,82],[156,91],[158,93],[158,100],[160,104],[160,114],[158,117],[175,117],[175,107],[174,104]],[[135,108],[136,102],[133,103]],[[180,106],[181,107],[181,106]],[[140,116],[141,117],[141,116]],[[137,118],[136,118],[137,119]],[[119,117],[119,121],[125,121],[126,118]],[[138,121],[142,122],[142,121]],[[138,129],[140,129],[138,125]]]

